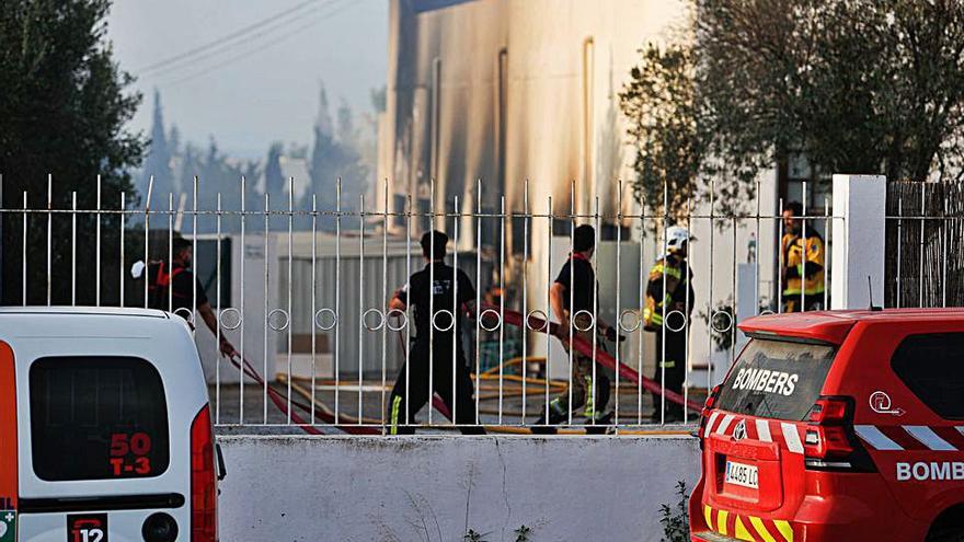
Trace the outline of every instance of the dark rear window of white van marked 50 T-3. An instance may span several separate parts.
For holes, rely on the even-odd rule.
[[[162,474],[168,406],[158,370],[130,357],[50,357],[31,366],[31,441],[42,480]]]

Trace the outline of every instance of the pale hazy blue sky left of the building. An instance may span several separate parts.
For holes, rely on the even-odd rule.
[[[158,89],[182,141],[214,136],[226,153],[262,158],[273,141],[311,143],[322,82],[333,111],[342,99],[370,111],[388,0],[115,0],[107,36],[144,94],[131,129],[149,132]]]

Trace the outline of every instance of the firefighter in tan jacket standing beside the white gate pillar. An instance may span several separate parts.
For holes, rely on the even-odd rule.
[[[783,312],[824,309],[824,239],[815,228],[806,228],[803,206],[792,201],[783,209],[783,239],[780,241],[783,284]]]

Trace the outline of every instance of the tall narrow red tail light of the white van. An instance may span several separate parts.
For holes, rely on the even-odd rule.
[[[191,542],[218,540],[218,486],[210,406],[191,424]]]

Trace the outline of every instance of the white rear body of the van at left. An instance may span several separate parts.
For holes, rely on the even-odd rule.
[[[181,532],[179,540],[191,533],[191,427],[197,413],[208,404],[207,388],[200,360],[190,328],[183,319],[168,318],[160,311],[134,310],[133,314],[117,309],[110,312],[89,311],[0,311],[0,341],[15,353],[15,382],[19,431],[16,442],[21,461],[18,475],[22,504],[44,503],[43,511],[26,509],[20,515],[20,542],[68,539],[68,516],[106,514],[111,542],[139,541],[141,526],[151,514],[171,515]],[[140,318],[146,316],[146,318]],[[44,336],[41,332],[49,331]],[[53,338],[51,338],[53,336]],[[68,365],[72,358],[137,358],[157,370],[167,403],[168,465],[163,472],[144,477],[110,477],[103,480],[44,480],[33,464],[34,442],[31,413],[31,368],[42,359],[57,358]],[[0,348],[0,368],[3,353]],[[0,370],[0,388],[2,388]],[[2,396],[0,396],[2,401]],[[5,411],[3,411],[5,412]],[[0,420],[2,422],[2,420]],[[3,426],[0,425],[0,433]],[[5,440],[5,439],[4,439]],[[2,451],[3,442],[0,442]],[[64,450],[70,461],[71,450]],[[0,460],[4,455],[0,454]],[[105,462],[110,457],[103,458]],[[0,482],[4,478],[0,477]],[[2,486],[0,486],[2,487]],[[177,495],[176,503],[158,503],[158,497]],[[110,497],[126,496],[153,503],[142,509],[117,505]],[[77,511],[74,499],[104,497],[103,509]],[[176,499],[175,499],[176,500]],[[54,504],[53,507],[50,504]],[[57,509],[57,503],[65,503]],[[167,504],[164,504],[167,503]],[[173,503],[173,504],[172,504]],[[30,507],[27,507],[30,508]],[[76,518],[74,518],[76,519]],[[128,538],[125,538],[128,537]]]

